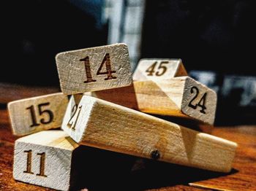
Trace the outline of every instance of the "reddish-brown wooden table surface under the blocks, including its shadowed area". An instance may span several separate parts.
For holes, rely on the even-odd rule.
[[[24,89],[21,91],[26,92]],[[53,88],[53,92],[56,89]],[[31,93],[23,95],[29,97]],[[16,182],[12,178],[14,143],[18,137],[12,135],[1,96],[0,190],[50,190]],[[4,101],[12,98],[9,96]],[[85,147],[88,152],[84,163],[88,165],[85,176],[80,177],[83,185],[78,185],[76,190],[256,190],[256,125],[215,127],[211,134],[238,143],[233,170],[229,174]]]

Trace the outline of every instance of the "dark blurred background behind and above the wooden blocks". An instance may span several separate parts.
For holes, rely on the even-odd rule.
[[[181,58],[217,91],[216,125],[256,124],[252,2],[3,1],[0,83],[59,87],[58,52],[125,42],[133,69],[140,58]]]

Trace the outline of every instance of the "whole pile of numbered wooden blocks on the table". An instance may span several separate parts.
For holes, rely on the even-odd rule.
[[[14,179],[69,190],[80,144],[230,171],[236,143],[192,129],[213,125],[217,94],[187,77],[180,59],[143,59],[132,77],[127,45],[112,44],[61,52],[56,64],[62,93],[8,104],[13,133],[23,136],[15,141]],[[185,128],[154,114],[194,123]]]

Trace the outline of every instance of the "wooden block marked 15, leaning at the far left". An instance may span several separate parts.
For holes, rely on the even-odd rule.
[[[68,98],[63,93],[26,98],[8,104],[12,132],[24,136],[61,127]]]

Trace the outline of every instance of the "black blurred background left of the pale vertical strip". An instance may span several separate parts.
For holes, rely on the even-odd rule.
[[[99,3],[80,2],[79,6],[63,0],[1,4],[5,10],[1,12],[1,82],[59,86],[58,52],[107,43],[108,31],[97,28],[98,18],[86,11],[96,6],[95,15],[100,17]]]

